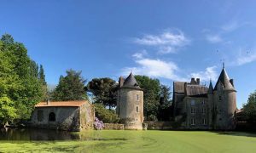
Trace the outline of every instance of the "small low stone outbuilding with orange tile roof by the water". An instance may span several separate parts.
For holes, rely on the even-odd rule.
[[[95,109],[88,101],[40,102],[32,113],[32,127],[80,131],[93,128]]]

